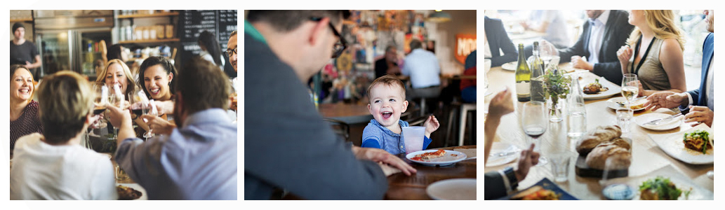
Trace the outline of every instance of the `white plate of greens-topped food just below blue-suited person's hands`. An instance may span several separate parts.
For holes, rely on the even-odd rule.
[[[704,123],[678,133],[649,136],[662,151],[680,161],[688,164],[713,164],[715,161],[715,135]]]

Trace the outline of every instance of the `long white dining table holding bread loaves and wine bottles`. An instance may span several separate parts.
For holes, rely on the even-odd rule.
[[[560,64],[560,69],[571,68],[568,63]],[[579,74],[585,76],[595,76],[591,72],[580,72]],[[502,91],[507,88],[513,93],[513,103],[515,103],[515,111],[511,114],[506,114],[501,118],[500,125],[496,130],[494,137],[495,142],[510,143],[518,148],[527,148],[529,146],[528,138],[523,130],[521,129],[521,110],[523,102],[518,102],[515,94],[515,74],[514,71],[504,70],[502,67],[492,67],[489,72],[486,72],[486,77],[489,81],[489,91],[493,94],[486,96],[485,104],[486,109],[488,107],[491,98],[495,96],[495,93]],[[603,79],[603,78],[602,78]],[[601,80],[601,79],[600,79]],[[612,81],[615,84],[621,83],[621,81]],[[585,84],[580,84],[582,87]],[[621,97],[621,94],[616,94],[608,98],[600,98],[596,100],[585,101],[585,107],[587,109],[587,130],[593,130],[597,126],[604,125],[617,125],[616,123],[616,112],[614,109],[610,109],[607,106],[609,98]],[[634,112],[634,117],[642,114],[652,113],[648,109]],[[676,114],[671,109],[658,109],[655,112],[665,114]],[[582,200],[605,200],[605,196],[602,196],[602,183],[599,177],[580,177],[576,175],[576,159],[578,154],[576,153],[576,142],[578,139],[569,138],[567,136],[567,119],[566,112],[563,114],[564,120],[562,122],[550,122],[546,133],[539,137],[537,143],[540,146],[542,156],[551,157],[555,154],[571,154],[571,162],[568,166],[568,180],[566,182],[555,182],[563,190],[566,190],[571,195]],[[485,117],[484,117],[485,120]],[[632,119],[634,121],[634,118]],[[485,122],[484,122],[485,123]],[[692,124],[682,123],[679,127],[672,130],[655,131],[647,130],[643,127],[639,127],[635,122],[631,122],[630,132],[623,134],[624,137],[631,138],[631,165],[629,167],[629,177],[644,177],[652,175],[653,172],[660,172],[662,169],[670,169],[671,173],[678,174],[677,176],[684,176],[685,179],[692,180],[695,185],[698,185],[706,190],[713,191],[713,180],[708,177],[707,173],[714,169],[714,164],[687,164],[683,161],[679,161],[660,149],[649,135],[658,134],[671,134],[679,133],[688,130],[692,127]],[[492,151],[494,153],[494,151]],[[490,161],[490,160],[489,160]],[[517,159],[518,161],[518,159]],[[484,172],[492,172],[505,167],[515,167],[517,161],[511,161],[508,164],[503,164],[495,167],[485,167]],[[549,180],[555,180],[555,175],[552,172],[552,162],[549,159],[547,164],[542,166],[531,167],[529,175],[519,182],[518,190],[523,190],[535,185],[539,180],[548,178]],[[637,186],[634,186],[635,188]]]

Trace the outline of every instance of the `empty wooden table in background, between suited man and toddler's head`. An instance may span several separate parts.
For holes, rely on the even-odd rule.
[[[337,119],[347,124],[365,123],[373,119],[367,104],[320,104],[319,111],[322,117]]]

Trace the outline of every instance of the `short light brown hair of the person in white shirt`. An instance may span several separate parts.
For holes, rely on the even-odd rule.
[[[78,135],[94,107],[94,95],[86,78],[76,72],[65,70],[44,77],[38,87],[38,114],[46,140],[66,143]]]

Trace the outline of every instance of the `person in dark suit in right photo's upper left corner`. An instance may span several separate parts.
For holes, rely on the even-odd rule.
[[[486,32],[486,40],[489,41],[489,49],[491,49],[491,67],[499,67],[502,64],[516,61],[518,51],[513,46],[511,39],[508,38],[501,20],[484,16],[484,31]],[[503,54],[501,54],[501,51],[503,51]],[[484,58],[488,59],[489,57],[484,54]]]

